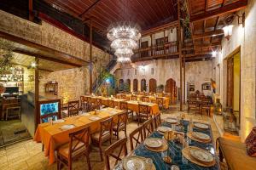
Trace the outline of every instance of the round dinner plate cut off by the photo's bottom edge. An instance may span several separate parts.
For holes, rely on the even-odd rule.
[[[129,156],[123,161],[125,170],[146,170],[146,161],[139,156]]]

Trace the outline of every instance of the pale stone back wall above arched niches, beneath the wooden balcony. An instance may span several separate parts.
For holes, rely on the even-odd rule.
[[[136,70],[137,75],[135,75]],[[211,82],[212,70],[212,60],[186,63],[186,88],[187,82],[190,82],[195,84],[195,90],[201,91],[202,83]],[[133,79],[137,78],[139,90],[141,80],[146,79],[146,83],[148,84],[151,78],[156,80],[157,86],[160,84],[166,85],[166,80],[172,78],[176,82],[177,87],[179,87],[179,72],[179,59],[158,59],[125,65],[122,69],[115,71],[114,74],[118,80],[131,79],[131,89],[133,89]],[[211,91],[207,95],[211,95]]]

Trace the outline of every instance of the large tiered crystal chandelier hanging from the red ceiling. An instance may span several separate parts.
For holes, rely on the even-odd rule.
[[[109,26],[108,40],[111,48],[115,50],[115,55],[119,62],[131,62],[132,49],[138,47],[137,41],[141,37],[140,27],[131,22],[122,22]]]

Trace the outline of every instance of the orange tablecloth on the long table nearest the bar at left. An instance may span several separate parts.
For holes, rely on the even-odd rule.
[[[113,111],[115,112],[113,113]],[[95,115],[88,114],[87,116],[67,117],[65,122],[54,125],[42,123],[38,125],[34,140],[44,144],[44,154],[45,156],[49,156],[49,164],[52,164],[55,162],[55,150],[61,144],[66,144],[69,141],[69,133],[87,126],[90,126],[90,133],[96,133],[100,128],[100,122],[102,120],[113,116],[114,122],[117,122],[118,115],[123,112],[113,108],[106,108],[104,111],[98,111],[96,116],[100,117],[100,119],[97,121],[91,121],[89,118]],[[90,113],[94,113],[94,111]],[[67,124],[73,124],[75,127],[69,130],[61,130],[61,126]]]

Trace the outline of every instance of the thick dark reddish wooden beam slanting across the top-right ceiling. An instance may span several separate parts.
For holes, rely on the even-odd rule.
[[[223,7],[212,9],[203,14],[192,15],[190,17],[190,22],[207,20],[207,19],[210,19],[210,18],[213,18],[216,16],[230,13],[230,12],[236,12],[236,11],[241,10],[242,8],[246,8],[246,7],[247,7],[247,0],[240,0],[240,1],[237,1],[236,3],[230,3]]]

